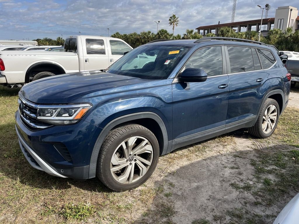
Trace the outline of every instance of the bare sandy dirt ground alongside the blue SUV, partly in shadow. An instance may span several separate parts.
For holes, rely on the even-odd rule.
[[[299,108],[299,93],[290,94],[288,107]],[[249,212],[249,217],[252,214],[263,216],[261,223],[273,223],[279,211],[297,194],[296,191],[290,192],[281,202],[264,206],[257,205],[259,198],[246,191],[237,191],[231,184],[250,182],[255,171],[251,161],[257,159],[257,153],[277,149],[287,151],[296,148],[272,141],[271,137],[267,140],[254,139],[248,132],[239,130],[160,157],[148,184],[163,186],[164,195],[167,192],[172,195],[156,196],[149,215],[138,217],[136,223],[196,223],[196,220],[229,223],[231,216],[228,216],[228,211],[234,209],[244,215]],[[174,209],[169,212],[168,221],[156,218],[164,203]]]

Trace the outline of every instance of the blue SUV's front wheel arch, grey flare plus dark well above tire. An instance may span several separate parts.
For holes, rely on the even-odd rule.
[[[109,122],[100,132],[100,135],[97,137],[97,140],[94,144],[91,153],[89,163],[89,178],[93,178],[96,176],[97,159],[100,152],[100,148],[109,131],[111,131],[113,128],[117,126],[124,125],[126,123],[136,123],[139,125],[143,125],[150,131],[152,131],[158,139],[160,155],[166,154],[168,148],[167,129],[164,125],[163,120],[160,116],[158,116],[158,114],[153,112],[140,112],[121,116]]]

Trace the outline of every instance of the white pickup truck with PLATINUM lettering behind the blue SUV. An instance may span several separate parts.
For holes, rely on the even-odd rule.
[[[80,35],[65,39],[64,50],[0,51],[0,85],[18,88],[47,76],[106,69],[132,47],[118,38]]]

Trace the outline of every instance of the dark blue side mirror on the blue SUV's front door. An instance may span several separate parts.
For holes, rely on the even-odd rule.
[[[205,82],[208,74],[201,68],[186,68],[179,77],[181,82]]]

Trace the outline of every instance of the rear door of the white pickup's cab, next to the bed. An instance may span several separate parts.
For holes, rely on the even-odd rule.
[[[109,67],[107,43],[103,38],[82,38],[84,70],[100,70]]]

